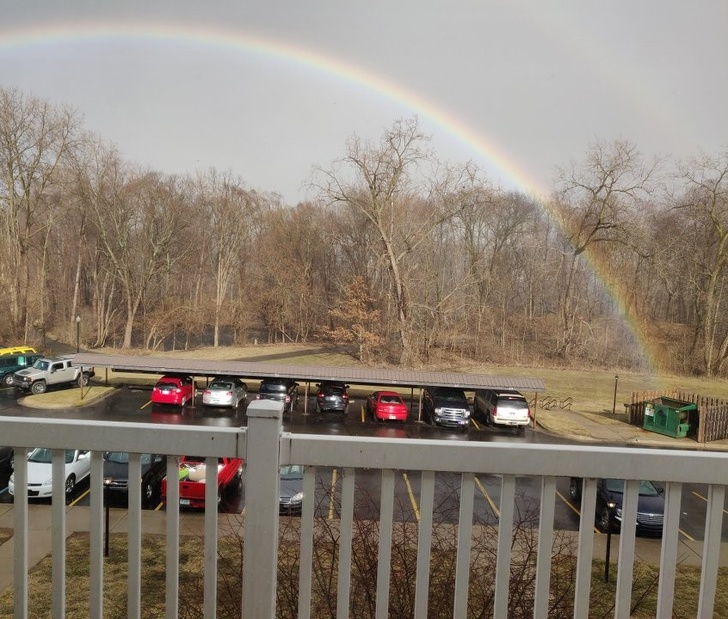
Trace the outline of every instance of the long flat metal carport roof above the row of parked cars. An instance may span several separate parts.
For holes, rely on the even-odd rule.
[[[300,381],[340,380],[360,385],[397,385],[401,387],[460,387],[476,389],[516,389],[544,391],[543,380],[525,376],[494,376],[455,372],[422,372],[416,370],[289,365],[260,361],[175,359],[130,355],[76,353],[76,365],[110,368],[121,372],[152,374],[190,374],[192,376],[239,376],[241,378],[293,378]]]

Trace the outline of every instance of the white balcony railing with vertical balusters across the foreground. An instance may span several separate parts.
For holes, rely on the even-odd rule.
[[[281,464],[303,464],[304,496],[315,494],[316,471],[332,467],[342,472],[341,502],[338,509],[338,585],[336,616],[352,614],[350,577],[352,543],[355,539],[355,492],[357,476],[372,469],[380,471],[379,540],[376,588],[376,617],[388,616],[395,507],[395,473],[420,472],[418,492],[417,558],[414,615],[428,616],[431,546],[436,523],[433,512],[436,474],[459,476],[459,520],[456,536],[456,570],[453,596],[453,617],[465,617],[473,535],[473,510],[478,476],[500,476],[498,501],[497,563],[494,582],[495,617],[508,615],[514,505],[516,480],[534,478],[540,484],[540,508],[537,541],[534,616],[547,617],[549,609],[552,546],[555,536],[556,483],[559,477],[585,478],[582,491],[581,525],[577,536],[574,616],[589,616],[589,597],[594,549],[596,479],[652,479],[665,484],[666,512],[661,541],[660,581],[657,615],[672,616],[672,603],[678,563],[678,529],[681,512],[682,484],[700,483],[709,487],[704,529],[701,585],[698,616],[712,616],[721,550],[721,525],[728,481],[728,454],[601,448],[590,446],[514,445],[507,443],[452,442],[438,440],[356,438],[349,436],[305,435],[282,432],[281,407],[271,401],[255,401],[248,408],[247,428],[211,428],[172,426],[147,423],[100,423],[84,420],[0,418],[3,441],[16,446],[14,504],[14,596],[15,617],[25,618],[28,609],[28,502],[23,493],[27,482],[27,463],[18,454],[31,447],[54,450],[52,500],[52,570],[53,617],[65,616],[65,540],[66,510],[63,487],[63,450],[92,450],[90,481],[90,568],[91,616],[103,617],[103,460],[104,451],[127,451],[131,458],[129,478],[141,477],[138,454],[162,453],[168,459],[167,472],[176,478],[178,458],[195,454],[216,463],[218,457],[239,457],[246,460],[244,564],[242,585],[243,616],[273,618],[276,616],[276,581],[278,573],[278,469]],[[217,468],[207,467],[206,505],[204,512],[204,615],[217,614]],[[625,523],[619,536],[615,616],[629,617],[632,575],[635,557],[635,521],[638,484],[625,486]],[[416,490],[415,490],[416,492]],[[316,515],[314,501],[304,500],[300,523],[300,577],[298,584],[298,616],[311,616],[312,559]],[[128,511],[128,616],[143,617],[141,606],[142,547],[141,488],[129,484]],[[166,508],[166,613],[177,617],[179,607],[179,488],[168,485]]]

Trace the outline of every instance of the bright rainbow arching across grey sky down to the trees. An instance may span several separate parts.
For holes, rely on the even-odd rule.
[[[542,211],[562,231],[566,231],[566,224],[549,207],[546,199],[548,190],[529,178],[526,170],[519,166],[499,145],[486,139],[478,130],[463,122],[462,119],[448,113],[447,110],[420,94],[405,88],[401,83],[389,80],[381,74],[351,62],[345,62],[340,58],[272,37],[262,37],[248,32],[208,25],[152,24],[138,21],[114,23],[79,21],[29,26],[12,31],[3,31],[0,27],[0,52],[33,46],[98,44],[111,40],[152,41],[169,45],[193,44],[223,51],[232,50],[238,53],[260,55],[266,59],[284,63],[286,66],[300,66],[304,70],[316,71],[356,87],[363,87],[377,96],[412,110],[418,117],[426,118],[442,128],[446,134],[466,145],[478,156],[478,159],[486,161],[489,167],[494,168],[507,185],[517,187],[536,199]],[[658,368],[655,363],[656,355],[650,352],[648,340],[640,327],[628,318],[629,312],[625,311],[623,303],[624,296],[619,294],[614,279],[609,277],[606,270],[600,266],[598,258],[592,252],[586,252],[586,257],[595,275],[611,297],[617,313],[632,333],[648,367],[655,373]]]

